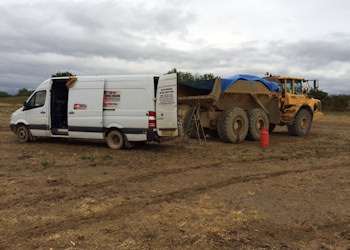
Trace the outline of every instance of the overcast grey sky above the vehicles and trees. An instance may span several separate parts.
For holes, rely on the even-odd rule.
[[[0,0],[0,91],[76,75],[319,79],[350,94],[349,0]]]

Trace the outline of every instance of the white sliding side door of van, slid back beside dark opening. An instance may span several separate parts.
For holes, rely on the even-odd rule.
[[[76,81],[68,92],[68,135],[103,139],[104,81]]]

